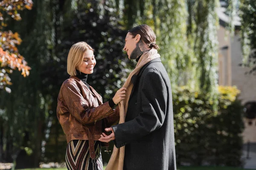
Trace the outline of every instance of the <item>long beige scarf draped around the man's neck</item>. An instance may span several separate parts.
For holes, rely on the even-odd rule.
[[[130,99],[131,90],[133,88],[133,84],[131,83],[131,77],[134,74],[137,75],[140,71],[140,68],[142,68],[143,65],[159,57],[160,55],[157,53],[157,50],[154,48],[143,53],[135,69],[129,74],[125,84],[123,85],[123,87],[127,88],[125,99],[119,102],[119,114],[120,114],[119,124],[125,122],[125,116],[128,108],[128,101]],[[120,147],[119,149],[117,149],[116,146],[114,146],[113,153],[111,155],[111,158],[105,170],[123,170],[124,156],[125,156],[125,146]]]

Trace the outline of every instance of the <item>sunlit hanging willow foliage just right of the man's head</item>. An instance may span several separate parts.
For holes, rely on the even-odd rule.
[[[156,32],[161,59],[165,63],[172,86],[186,85],[190,78],[187,71],[191,71],[188,66],[192,56],[188,55],[185,0],[160,0],[156,8],[156,22],[160,21],[156,23]]]

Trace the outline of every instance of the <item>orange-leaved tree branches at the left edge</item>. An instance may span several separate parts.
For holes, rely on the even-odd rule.
[[[21,43],[19,34],[3,30],[7,26],[8,15],[14,20],[21,20],[18,11],[25,8],[31,9],[32,4],[32,0],[2,0],[0,2],[0,66],[2,68],[0,69],[0,89],[5,89],[9,93],[11,89],[6,87],[12,84],[9,74],[17,68],[26,77],[29,75],[30,68],[16,47]]]

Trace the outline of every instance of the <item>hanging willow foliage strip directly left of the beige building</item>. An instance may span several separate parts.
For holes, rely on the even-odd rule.
[[[214,110],[217,110],[217,79],[218,79],[218,16],[215,13],[218,0],[198,0],[190,2],[189,23],[197,67],[196,75],[199,75],[199,88],[213,99]]]

